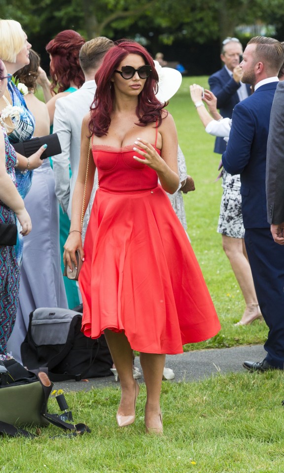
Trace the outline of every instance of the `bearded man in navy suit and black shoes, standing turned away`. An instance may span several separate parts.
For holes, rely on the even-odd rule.
[[[240,64],[245,83],[254,93],[233,111],[224,168],[241,175],[245,243],[262,315],[269,327],[261,362],[246,361],[249,371],[284,369],[284,246],[276,245],[267,221],[265,171],[272,102],[284,47],[273,38],[250,39]]]

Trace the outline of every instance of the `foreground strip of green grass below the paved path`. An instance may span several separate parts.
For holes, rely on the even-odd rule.
[[[165,434],[144,434],[145,388],[135,424],[119,429],[118,388],[68,393],[75,421],[92,428],[81,438],[0,440],[5,473],[283,473],[283,374],[217,374],[202,382],[163,383]],[[50,411],[58,410],[55,400]]]

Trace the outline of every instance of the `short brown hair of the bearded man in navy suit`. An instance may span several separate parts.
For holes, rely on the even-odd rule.
[[[269,71],[277,75],[284,63],[284,47],[281,42],[266,36],[254,36],[248,44],[256,44],[255,62],[263,61]]]

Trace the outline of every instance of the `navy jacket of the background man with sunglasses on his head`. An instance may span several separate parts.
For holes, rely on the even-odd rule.
[[[210,90],[217,97],[217,108],[220,109],[220,114],[223,118],[232,118],[233,108],[240,101],[237,91],[241,87],[241,84],[230,77],[225,66],[212,74],[209,77],[208,82]],[[248,95],[250,95],[250,85],[246,85]],[[223,138],[217,137],[214,152],[222,154],[225,149],[226,142]]]

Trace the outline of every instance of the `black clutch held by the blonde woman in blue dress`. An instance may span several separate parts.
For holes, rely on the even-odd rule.
[[[13,143],[13,147],[17,153],[29,158],[32,154],[36,153],[40,146],[44,144],[47,144],[47,148],[45,151],[43,151],[40,159],[46,159],[49,156],[55,156],[56,154],[60,154],[62,152],[57,133],[27,139],[26,141],[20,141],[19,143]]]

